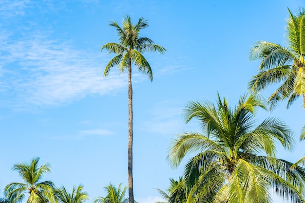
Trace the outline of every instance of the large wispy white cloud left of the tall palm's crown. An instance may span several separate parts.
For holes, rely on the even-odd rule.
[[[117,73],[103,77],[105,61],[100,53],[78,51],[41,35],[0,43],[0,51],[2,91],[15,92],[18,106],[58,105],[118,91],[127,84],[126,77]]]

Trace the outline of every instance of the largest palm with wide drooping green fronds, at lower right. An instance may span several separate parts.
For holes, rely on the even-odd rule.
[[[219,95],[216,105],[194,101],[186,106],[186,121],[197,118],[203,133],[177,135],[168,161],[178,167],[185,156],[194,155],[184,172],[193,185],[187,203],[207,189],[214,191],[216,203],[267,203],[270,188],[286,200],[304,203],[305,169],[290,169],[292,163],[275,158],[275,141],[291,149],[292,132],[276,118],[255,126],[258,108],[266,106],[257,94],[241,96],[233,110]]]

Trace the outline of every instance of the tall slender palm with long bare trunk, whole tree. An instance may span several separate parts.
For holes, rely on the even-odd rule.
[[[133,24],[130,16],[123,19],[122,27],[115,21],[110,21],[110,26],[115,27],[119,37],[119,43],[107,43],[102,46],[114,53],[115,56],[106,65],[104,76],[108,76],[112,67],[117,66],[121,73],[128,70],[128,193],[129,201],[133,203],[133,88],[132,88],[132,64],[138,71],[146,74],[152,81],[152,69],[145,57],[146,52],[164,53],[166,50],[147,37],[140,37],[140,31],[148,26],[147,20],[139,18],[137,24]]]

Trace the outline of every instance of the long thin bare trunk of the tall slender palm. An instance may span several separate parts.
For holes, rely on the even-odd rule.
[[[133,87],[132,62],[128,62],[128,195],[133,203]]]

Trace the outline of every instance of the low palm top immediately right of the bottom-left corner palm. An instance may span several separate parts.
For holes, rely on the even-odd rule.
[[[73,186],[72,192],[67,192],[64,186],[55,188],[53,191],[54,198],[58,203],[84,203],[88,200],[87,192],[83,191],[83,185]]]

